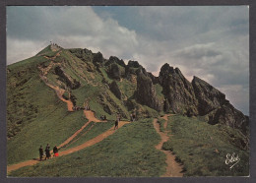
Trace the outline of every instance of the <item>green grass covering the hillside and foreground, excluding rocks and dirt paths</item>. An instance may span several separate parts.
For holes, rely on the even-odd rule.
[[[53,54],[47,49],[44,51],[47,55]],[[83,105],[86,98],[91,98],[91,108],[96,111],[98,118],[105,114],[107,119],[115,119],[115,115],[108,115],[102,105],[98,103],[97,96],[106,91],[107,96],[116,106],[119,106],[128,115],[128,110],[121,101],[111,91],[101,88],[103,78],[108,83],[112,81],[103,68],[100,68],[102,76],[94,72],[94,77],[92,77],[92,73],[86,71],[84,62],[65,50],[62,51],[61,57],[57,58],[59,61],[65,58],[67,67],[64,67],[64,71],[82,83],[81,88],[72,91],[77,97],[79,106]],[[45,146],[46,143],[49,143],[51,148],[55,144],[59,145],[87,122],[82,111],[67,112],[66,103],[60,101],[55,92],[40,81],[36,70],[38,62],[47,64],[49,61],[42,56],[37,56],[8,66],[11,72],[8,74],[7,87],[7,125],[8,133],[15,136],[8,141],[8,164],[37,157],[40,145]],[[81,79],[83,74],[87,75],[94,85],[101,87],[87,84],[86,80]],[[52,71],[49,73],[49,77],[55,77]],[[56,77],[53,81],[56,81]],[[125,79],[123,82],[117,83],[127,97],[132,97],[133,91],[128,89],[136,86],[131,85]],[[161,87],[158,85],[155,87],[158,96],[162,98]],[[133,102],[135,101],[133,100]],[[138,103],[135,106],[141,115],[137,114],[137,117],[159,115],[157,111],[147,106]],[[111,107],[113,106],[111,105]],[[116,111],[114,108],[111,109]],[[163,131],[163,122],[160,120],[161,131]],[[67,149],[96,137],[109,129],[111,125],[112,122],[96,123],[84,136],[83,134],[91,127],[88,126],[77,137],[78,141],[72,143]],[[248,152],[238,150],[231,145],[230,142],[233,139],[227,135],[228,131],[228,134],[238,137],[239,134],[233,129],[211,126],[197,119],[182,116],[171,117],[167,128],[167,130],[171,129],[174,136],[171,137],[171,141],[164,144],[164,149],[173,150],[177,154],[177,159],[184,163],[185,176],[248,175]],[[156,151],[154,147],[160,140],[159,138],[152,121],[144,120],[140,123],[132,123],[119,129],[118,132],[94,147],[60,157],[58,160],[55,158],[33,167],[22,168],[13,172],[12,175],[159,176],[163,173],[165,164],[165,156]],[[218,150],[219,153],[214,152],[215,150]],[[227,152],[238,153],[241,159],[232,171],[224,164]]]

